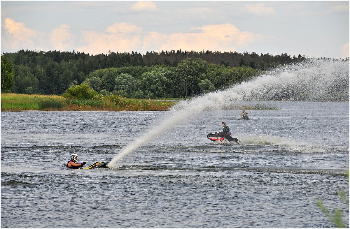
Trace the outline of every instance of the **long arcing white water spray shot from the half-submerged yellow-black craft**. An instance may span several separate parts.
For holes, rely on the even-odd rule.
[[[294,98],[303,101],[339,101],[349,99],[349,62],[308,59],[298,64],[280,66],[224,91],[216,91],[182,101],[157,120],[157,126],[125,146],[109,163],[109,167],[128,153],[175,124],[201,113],[221,110],[230,101],[259,101]]]

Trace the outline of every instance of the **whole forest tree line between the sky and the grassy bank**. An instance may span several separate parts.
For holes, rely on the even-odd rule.
[[[146,54],[109,51],[90,56],[74,50],[22,49],[1,55],[1,92],[62,95],[70,87],[87,84],[102,95],[178,98],[224,89],[274,66],[307,58],[300,54],[291,57],[287,53],[272,56],[209,50]]]

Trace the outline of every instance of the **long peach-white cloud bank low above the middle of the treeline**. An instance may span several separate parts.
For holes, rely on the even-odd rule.
[[[82,32],[81,41],[84,45],[76,50],[89,52],[93,55],[107,53],[109,50],[114,52],[137,50],[141,53],[173,49],[230,51],[237,50],[237,47],[251,44],[262,38],[260,34],[240,31],[236,26],[229,23],[191,28],[200,31],[199,33],[173,33],[169,35],[155,31],[148,32],[146,35],[141,33],[132,34],[128,32],[140,31],[141,28],[134,27],[129,23],[118,24],[123,24],[123,28],[129,25],[129,27],[137,29],[117,30],[112,26],[112,28],[106,29],[106,32],[113,32],[111,34],[96,31]]]

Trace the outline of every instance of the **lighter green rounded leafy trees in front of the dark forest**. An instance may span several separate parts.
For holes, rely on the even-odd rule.
[[[260,72],[246,66],[225,67],[209,64],[200,58],[188,58],[179,62],[177,67],[155,65],[99,69],[91,72],[83,83],[97,92],[103,91],[103,94],[113,93],[128,98],[170,98],[227,88]]]

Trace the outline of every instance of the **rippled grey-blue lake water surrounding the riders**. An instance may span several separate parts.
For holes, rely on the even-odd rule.
[[[349,225],[349,102],[238,103],[280,110],[1,112],[1,227],[334,227],[318,199]],[[222,121],[241,145],[206,137]]]

